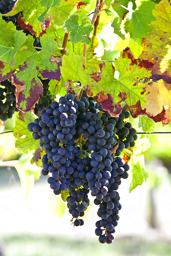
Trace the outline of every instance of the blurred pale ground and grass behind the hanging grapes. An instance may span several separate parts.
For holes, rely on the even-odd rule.
[[[161,173],[166,172],[163,167]],[[52,190],[47,177],[41,177],[30,191],[25,202],[15,168],[10,172],[1,168],[0,229],[4,240],[5,256],[48,255],[171,255],[170,182],[164,179],[155,190],[154,207],[157,229],[150,227],[151,201],[149,186],[144,183],[130,194],[129,183],[119,186],[120,219],[115,228],[112,244],[100,244],[94,234],[98,206],[90,206],[87,219],[81,227],[73,227],[66,209],[62,219],[50,211]],[[9,181],[13,182],[9,184]],[[54,195],[55,196],[55,195]],[[93,197],[90,200],[93,203]]]

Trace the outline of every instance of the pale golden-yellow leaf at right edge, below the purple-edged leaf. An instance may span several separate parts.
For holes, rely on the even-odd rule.
[[[163,106],[168,105],[168,109],[163,115],[163,126],[171,122],[171,90],[168,91],[164,81],[152,82],[145,86],[149,93],[144,97],[147,101],[144,105],[149,116],[155,116],[162,112]]]

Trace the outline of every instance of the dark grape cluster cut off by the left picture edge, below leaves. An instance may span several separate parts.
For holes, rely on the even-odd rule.
[[[0,87],[0,119],[6,121],[12,118],[16,108],[15,86],[8,80],[1,82]]]

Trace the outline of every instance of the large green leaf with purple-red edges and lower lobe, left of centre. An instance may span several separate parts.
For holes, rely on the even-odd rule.
[[[37,51],[33,46],[34,38],[28,35],[25,46],[28,50],[17,53],[16,65],[20,72],[14,73],[12,83],[16,86],[16,106],[23,112],[29,111],[43,95],[43,88],[37,74],[43,78],[60,80],[60,65],[62,58],[53,36],[43,35],[40,38],[42,50]],[[19,66],[19,65],[18,65]]]

